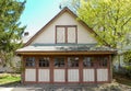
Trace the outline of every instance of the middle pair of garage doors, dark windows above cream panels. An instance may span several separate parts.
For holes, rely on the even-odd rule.
[[[53,58],[53,82],[79,82],[79,57]]]

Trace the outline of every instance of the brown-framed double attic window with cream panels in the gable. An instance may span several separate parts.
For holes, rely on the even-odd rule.
[[[78,26],[56,25],[56,43],[78,43]]]

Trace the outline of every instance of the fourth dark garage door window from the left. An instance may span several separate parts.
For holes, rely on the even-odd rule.
[[[79,67],[79,57],[69,57],[68,67]]]

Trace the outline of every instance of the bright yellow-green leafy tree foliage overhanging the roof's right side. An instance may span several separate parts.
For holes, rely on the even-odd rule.
[[[127,34],[131,30],[130,0],[81,0],[79,19],[84,21],[114,48],[128,44]]]

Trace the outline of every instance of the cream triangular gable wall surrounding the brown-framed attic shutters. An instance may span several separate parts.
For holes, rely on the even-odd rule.
[[[87,44],[96,43],[96,39],[92,34],[81,25],[76,19],[70,15],[68,12],[64,12],[61,16],[51,22],[38,37],[34,39],[32,44],[41,43],[41,44],[55,44],[56,38],[56,25],[78,25],[78,43]]]

